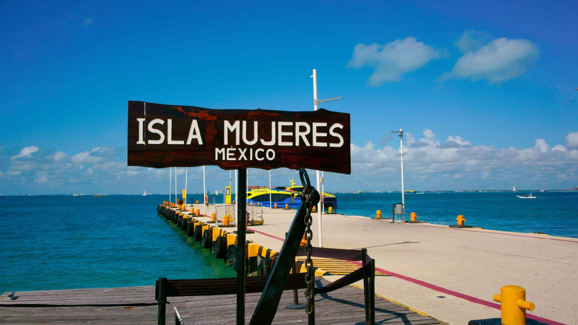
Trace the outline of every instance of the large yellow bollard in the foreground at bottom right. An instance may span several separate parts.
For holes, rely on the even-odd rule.
[[[533,302],[526,301],[526,289],[518,286],[503,286],[494,301],[501,302],[503,325],[525,325],[526,310],[533,311]]]

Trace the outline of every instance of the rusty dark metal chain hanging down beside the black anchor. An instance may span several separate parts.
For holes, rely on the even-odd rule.
[[[311,212],[313,210],[313,202],[311,201],[311,193],[313,192],[313,187],[306,186],[303,188],[303,202],[305,202],[305,239],[307,240],[307,245],[305,245],[305,253],[307,258],[305,259],[305,268],[307,273],[305,274],[305,282],[307,283],[307,289],[305,289],[305,297],[307,298],[307,304],[305,305],[305,312],[307,315],[313,313],[313,299],[315,290],[315,278],[313,274],[313,260],[311,259],[311,254],[313,253],[313,246],[311,246],[311,240],[313,239],[313,231],[311,230],[311,224],[313,218]]]

